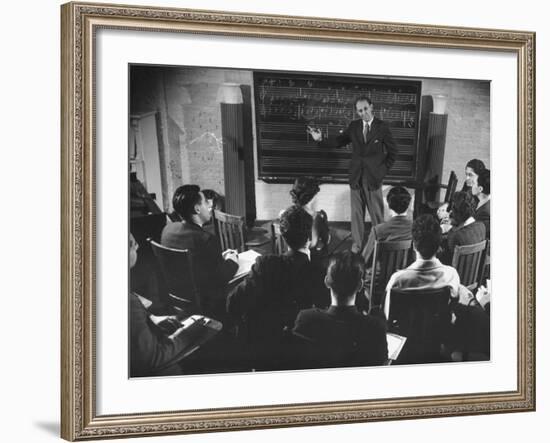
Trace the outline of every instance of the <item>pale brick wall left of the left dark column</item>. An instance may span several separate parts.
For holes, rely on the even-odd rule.
[[[251,71],[134,67],[131,114],[161,112],[165,193],[194,183],[224,193],[220,105],[224,82],[252,85]],[[162,155],[161,155],[162,157]],[[171,208],[164,208],[171,210]]]

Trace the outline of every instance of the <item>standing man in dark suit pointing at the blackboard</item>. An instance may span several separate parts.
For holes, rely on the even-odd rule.
[[[372,226],[384,221],[382,180],[395,162],[397,148],[389,126],[374,116],[374,104],[369,97],[355,100],[359,119],[353,120],[337,137],[323,140],[318,128],[308,126],[307,131],[322,147],[341,147],[351,143],[349,167],[351,188],[352,252],[359,253],[365,233],[365,207]]]

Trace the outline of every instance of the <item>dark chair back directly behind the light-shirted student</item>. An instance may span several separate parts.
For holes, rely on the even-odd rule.
[[[439,361],[451,325],[451,288],[392,289],[388,331],[407,337],[400,361]]]

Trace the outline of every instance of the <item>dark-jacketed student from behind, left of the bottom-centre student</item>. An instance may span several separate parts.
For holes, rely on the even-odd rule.
[[[256,259],[250,273],[228,296],[227,311],[247,330],[256,369],[273,369],[283,358],[285,329],[300,309],[328,305],[322,266],[309,250],[312,218],[300,206],[281,215],[280,230],[289,251]]]

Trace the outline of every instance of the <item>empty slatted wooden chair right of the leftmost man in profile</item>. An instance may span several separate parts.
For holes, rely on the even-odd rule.
[[[250,248],[259,248],[271,241],[264,234],[264,230],[246,230],[243,216],[227,214],[215,209],[214,223],[222,251],[235,249],[243,252]]]

